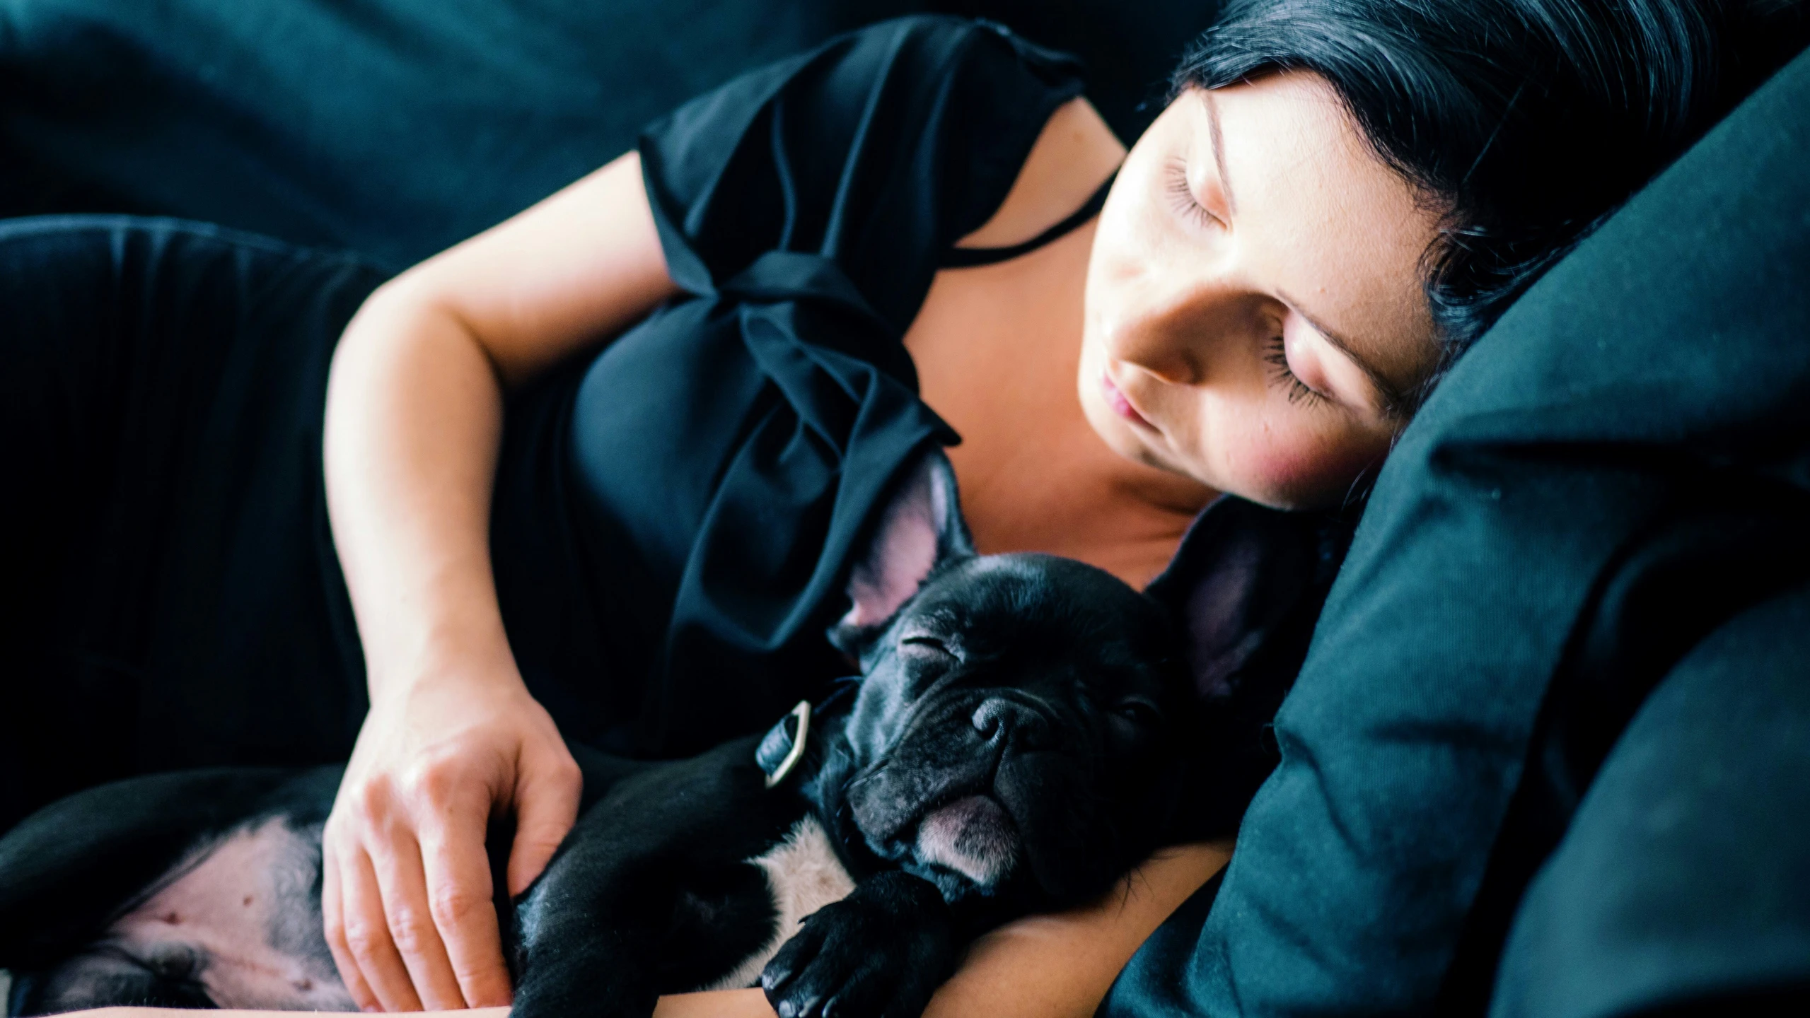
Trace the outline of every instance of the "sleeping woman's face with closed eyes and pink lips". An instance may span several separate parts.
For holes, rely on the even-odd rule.
[[[1437,212],[1314,74],[1189,89],[1138,139],[1088,266],[1081,403],[1120,456],[1339,501],[1435,360]]]

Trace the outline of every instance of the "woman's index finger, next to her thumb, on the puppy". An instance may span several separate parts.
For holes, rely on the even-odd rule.
[[[452,810],[443,823],[422,830],[427,908],[469,1007],[503,1007],[510,998],[503,937],[491,902],[491,859],[483,852],[487,806]]]

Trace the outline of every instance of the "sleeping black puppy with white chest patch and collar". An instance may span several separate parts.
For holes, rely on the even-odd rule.
[[[1189,698],[1155,602],[1073,561],[976,555],[941,454],[849,595],[831,638],[860,660],[853,696],[688,761],[581,750],[588,805],[501,910],[516,1014],[755,984],[782,1018],[918,1014],[977,933],[1160,844]],[[156,776],[27,819],[0,839],[13,1014],[351,1007],[319,908],[337,783]]]

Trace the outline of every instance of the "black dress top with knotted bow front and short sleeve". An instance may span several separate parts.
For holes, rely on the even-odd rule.
[[[843,564],[892,477],[956,441],[905,329],[1081,85],[1005,29],[909,18],[648,128],[688,297],[512,401],[496,490],[503,618],[568,736],[695,752],[845,671],[822,636]]]

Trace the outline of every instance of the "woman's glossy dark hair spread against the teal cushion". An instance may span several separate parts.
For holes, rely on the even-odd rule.
[[[1803,0],[1227,0],[1175,85],[1312,71],[1443,213],[1444,362],[1805,42]]]

